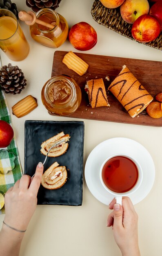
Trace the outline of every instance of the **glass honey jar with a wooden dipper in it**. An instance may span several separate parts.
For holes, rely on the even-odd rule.
[[[53,29],[50,29],[37,23],[31,25],[31,37],[36,42],[51,48],[57,48],[64,43],[69,27],[63,16],[52,9],[44,8],[36,13],[36,18],[54,26]]]

